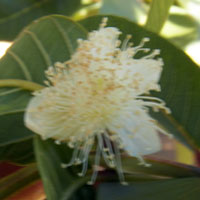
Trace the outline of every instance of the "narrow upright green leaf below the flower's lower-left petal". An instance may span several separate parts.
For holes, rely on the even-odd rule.
[[[66,147],[50,140],[42,141],[39,136],[35,137],[34,147],[48,200],[67,200],[87,182],[88,177],[79,178],[70,168],[61,168],[63,159],[60,154],[65,153],[68,160],[71,158],[71,152]]]

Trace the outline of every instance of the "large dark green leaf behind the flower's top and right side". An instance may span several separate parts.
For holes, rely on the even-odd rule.
[[[98,29],[103,16],[93,16],[80,23],[88,31]],[[120,17],[108,16],[108,26],[118,27],[122,31],[121,39],[131,34],[136,46],[142,38],[149,37],[145,45],[151,49],[160,49],[164,61],[160,80],[161,92],[152,93],[163,99],[172,114],[153,113],[153,116],[169,132],[184,141],[190,147],[200,147],[200,69],[191,59],[167,40]]]

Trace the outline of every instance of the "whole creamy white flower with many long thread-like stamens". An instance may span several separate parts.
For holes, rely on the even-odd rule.
[[[89,33],[88,40],[79,39],[69,61],[49,67],[47,87],[31,99],[25,124],[43,139],[67,142],[74,148],[70,163],[62,166],[83,164],[80,175],[86,173],[88,155],[97,140],[95,166],[102,155],[124,183],[119,149],[148,166],[142,156],[160,150],[158,131],[167,134],[148,114],[149,107],[169,109],[162,100],[144,96],[160,90],[163,62],[155,59],[159,51],[135,59],[138,51],[150,51],[143,48],[149,39],[131,47],[128,35],[120,48],[120,31],[105,25],[106,19],[99,30]],[[96,176],[95,168],[90,183]]]

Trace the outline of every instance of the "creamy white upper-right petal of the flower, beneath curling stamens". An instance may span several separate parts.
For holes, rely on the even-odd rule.
[[[122,63],[124,68],[119,68],[117,76],[127,88],[134,88],[135,95],[148,93],[149,90],[160,90],[158,81],[162,72],[162,60],[129,59]]]

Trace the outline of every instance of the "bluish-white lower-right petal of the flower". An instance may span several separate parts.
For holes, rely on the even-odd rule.
[[[132,115],[116,120],[109,129],[115,132],[123,148],[131,156],[142,156],[155,153],[161,149],[156,125],[150,116],[138,109],[140,115]]]

